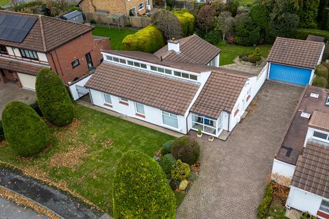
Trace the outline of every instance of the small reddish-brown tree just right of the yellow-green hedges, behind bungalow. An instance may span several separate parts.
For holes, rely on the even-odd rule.
[[[208,34],[208,31],[214,28],[216,10],[215,8],[206,5],[197,13],[197,23],[199,28]]]

